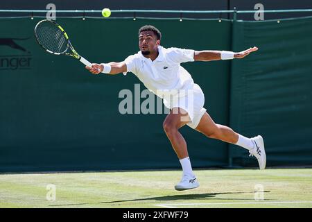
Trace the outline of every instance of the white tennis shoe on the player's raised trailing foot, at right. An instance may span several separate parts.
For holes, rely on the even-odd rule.
[[[263,138],[258,135],[257,137],[251,138],[252,142],[254,143],[254,148],[249,151],[249,156],[254,156],[257,158],[259,163],[260,169],[266,168],[266,151],[264,150],[264,142]]]

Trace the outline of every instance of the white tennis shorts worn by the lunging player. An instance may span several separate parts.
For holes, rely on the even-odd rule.
[[[168,109],[178,107],[186,110],[191,121],[189,121],[187,115],[185,115],[185,120],[183,119],[184,116],[182,116],[181,121],[189,121],[187,126],[193,129],[198,126],[200,119],[202,119],[202,115],[206,112],[206,109],[203,107],[205,103],[205,95],[197,84],[194,84],[192,89],[180,89],[178,94],[170,96],[170,99],[166,97],[163,101]]]

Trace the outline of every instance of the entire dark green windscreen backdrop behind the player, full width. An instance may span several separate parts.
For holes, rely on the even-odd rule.
[[[119,114],[119,92],[134,92],[135,75],[92,76],[72,58],[45,53],[33,37],[39,20],[0,19],[0,171],[180,167],[162,130],[166,114]],[[57,22],[91,62],[121,61],[136,53],[137,31],[144,24],[162,31],[164,47],[239,51],[259,46],[244,60],[183,66],[202,87],[214,121],[246,136],[265,137],[268,166],[312,162],[311,18],[234,26],[218,20]],[[26,38],[12,40],[25,51],[14,49],[6,40],[12,38]],[[193,167],[256,166],[243,149],[187,126],[181,132]]]

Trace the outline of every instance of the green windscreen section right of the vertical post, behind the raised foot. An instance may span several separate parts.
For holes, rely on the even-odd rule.
[[[261,134],[268,166],[312,164],[312,19],[234,22],[234,51],[259,51],[232,62],[230,125]],[[234,165],[254,164],[229,146]]]

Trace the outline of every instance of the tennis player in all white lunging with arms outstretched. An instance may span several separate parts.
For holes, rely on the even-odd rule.
[[[247,149],[257,158],[259,169],[266,168],[266,152],[263,138],[247,138],[235,133],[227,126],[216,124],[207,110],[203,108],[205,96],[200,86],[194,83],[182,62],[230,60],[244,58],[257,51],[257,47],[238,53],[232,51],[194,51],[192,49],[164,48],[160,46],[162,34],[154,26],[139,29],[140,51],[128,56],[123,62],[92,64],[86,67],[92,74],[126,74],[132,72],[153,93],[163,99],[164,105],[171,111],[164,120],[164,131],[170,140],[182,165],[182,179],[175,185],[176,190],[199,187],[193,173],[187,152],[187,143],[179,129],[187,125],[209,138],[236,144]]]

